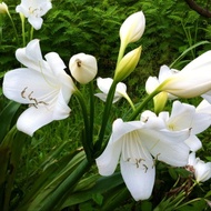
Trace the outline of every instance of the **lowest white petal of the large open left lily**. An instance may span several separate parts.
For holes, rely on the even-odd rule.
[[[33,135],[33,132],[52,121],[52,112],[46,107],[30,107],[18,119],[18,130]]]

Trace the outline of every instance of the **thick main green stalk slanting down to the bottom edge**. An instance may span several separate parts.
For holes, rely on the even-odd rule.
[[[47,200],[47,203],[43,204],[40,210],[53,210],[56,204],[54,202],[59,202],[59,200],[61,200],[68,191],[71,191],[72,187],[74,187],[81,177],[88,172],[91,165],[92,163],[84,159],[78,168],[58,187],[57,191],[51,194],[51,200]]]

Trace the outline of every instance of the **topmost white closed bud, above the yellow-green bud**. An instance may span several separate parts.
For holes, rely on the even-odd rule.
[[[145,18],[142,11],[129,16],[120,28],[120,40],[123,46],[138,41],[145,29]]]

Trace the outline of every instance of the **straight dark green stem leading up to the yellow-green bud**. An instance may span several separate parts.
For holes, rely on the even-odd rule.
[[[109,113],[112,107],[112,102],[113,102],[113,96],[115,93],[115,87],[117,87],[117,81],[113,81],[111,84],[111,88],[109,90],[108,97],[107,97],[107,101],[105,101],[105,105],[104,105],[104,111],[103,111],[103,115],[102,115],[102,123],[101,123],[101,129],[100,129],[100,133],[99,133],[99,139],[96,142],[96,150],[97,150],[97,155],[98,155],[98,151],[101,149],[102,145],[102,141],[104,138],[104,132],[105,132],[105,128],[108,124],[108,120],[109,120]]]

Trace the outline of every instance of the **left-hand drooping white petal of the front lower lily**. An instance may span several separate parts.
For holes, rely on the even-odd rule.
[[[97,167],[101,175],[111,175],[114,172],[119,162],[121,144],[122,142],[120,141],[113,142],[111,135],[105,150],[96,159]]]

